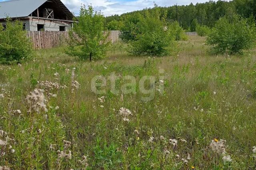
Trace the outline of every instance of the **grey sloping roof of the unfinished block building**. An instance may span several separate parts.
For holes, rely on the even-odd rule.
[[[6,18],[6,16],[10,18],[27,17],[46,1],[47,0],[8,0],[0,2],[0,18]],[[62,8],[68,17],[74,17],[60,0],[54,1]]]

